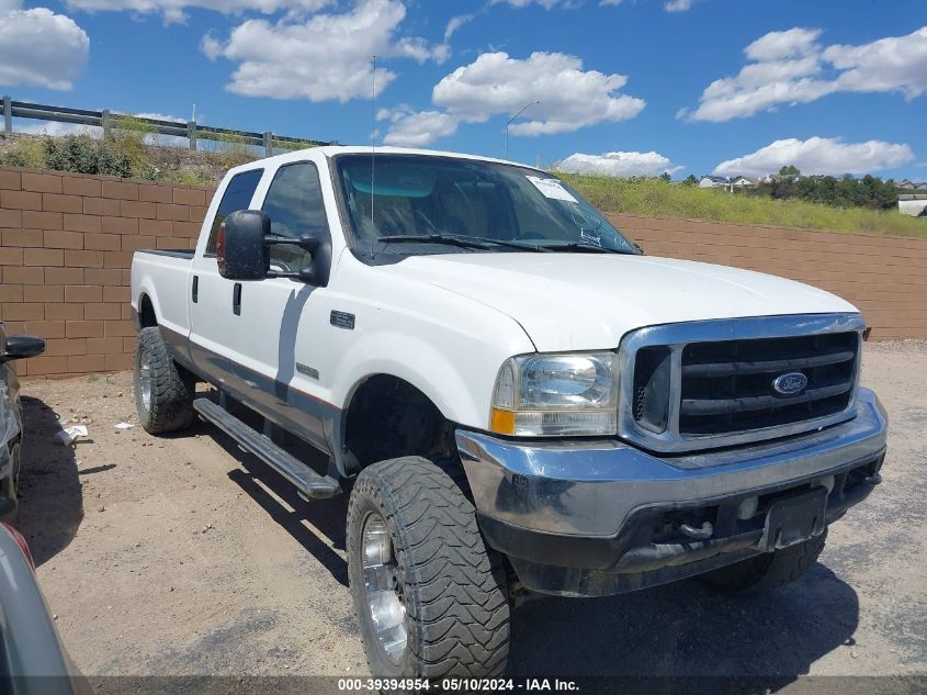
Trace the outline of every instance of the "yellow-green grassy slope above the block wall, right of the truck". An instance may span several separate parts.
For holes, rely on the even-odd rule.
[[[660,179],[557,176],[607,212],[927,238],[927,220],[908,217],[896,210],[840,210],[796,200],[749,198],[717,189],[667,183]]]

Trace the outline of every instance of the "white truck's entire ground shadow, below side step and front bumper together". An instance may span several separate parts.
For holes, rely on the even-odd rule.
[[[238,461],[229,479],[347,586],[349,495],[307,503],[233,439],[202,427]],[[324,457],[315,457],[299,456],[324,471]],[[756,595],[719,594],[687,580],[604,598],[543,597],[512,612],[508,675],[625,676],[640,680],[632,692],[721,692],[761,681],[760,692],[775,692],[822,657],[851,647],[858,621],[856,592],[822,563],[790,585]],[[705,681],[687,685],[698,677]]]

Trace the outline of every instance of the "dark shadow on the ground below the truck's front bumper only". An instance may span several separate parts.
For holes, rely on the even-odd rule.
[[[682,691],[682,676],[760,677],[776,691],[853,644],[858,620],[856,592],[821,563],[766,594],[724,595],[688,580],[609,598],[544,598],[513,613],[509,673],[656,676],[653,692],[665,676]]]

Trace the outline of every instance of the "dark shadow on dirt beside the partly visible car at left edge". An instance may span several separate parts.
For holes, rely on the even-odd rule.
[[[75,449],[63,446],[58,416],[39,399],[23,395],[23,468],[13,523],[29,541],[36,567],[68,547],[83,519]]]

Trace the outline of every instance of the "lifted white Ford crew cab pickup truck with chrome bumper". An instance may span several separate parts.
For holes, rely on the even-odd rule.
[[[231,169],[195,251],[136,253],[132,304],[149,433],[199,413],[305,498],[350,491],[380,676],[502,673],[512,592],[789,582],[881,480],[852,305],[645,256],[512,162],[319,147]]]

